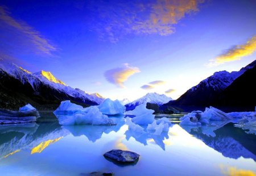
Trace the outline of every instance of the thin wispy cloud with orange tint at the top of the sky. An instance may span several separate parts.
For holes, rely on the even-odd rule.
[[[88,4],[90,22],[102,40],[117,42],[125,35],[171,35],[175,24],[186,14],[199,11],[204,0],[156,0],[151,2],[124,1]],[[100,22],[98,19],[101,19]]]

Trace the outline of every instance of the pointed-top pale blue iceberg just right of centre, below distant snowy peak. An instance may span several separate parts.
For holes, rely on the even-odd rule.
[[[136,106],[134,110],[127,111],[126,115],[135,115],[131,121],[137,125],[148,125],[154,122],[155,115],[154,110],[147,109],[146,103]]]

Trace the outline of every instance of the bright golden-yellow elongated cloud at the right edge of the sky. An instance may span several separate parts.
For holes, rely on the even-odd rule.
[[[251,37],[244,45],[236,45],[225,50],[215,59],[211,59],[208,66],[218,66],[225,62],[237,61],[242,57],[253,54],[254,51],[256,51],[256,36]]]

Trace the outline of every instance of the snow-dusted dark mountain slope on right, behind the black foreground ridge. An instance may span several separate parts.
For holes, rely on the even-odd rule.
[[[255,69],[256,60],[246,67],[241,68],[240,71],[219,71],[215,72],[212,76],[209,76],[207,79],[201,81],[199,84],[197,84],[195,87],[192,87],[187,92],[185,92],[180,98],[174,101],[170,101],[165,105],[168,106],[210,106],[210,105],[219,105],[217,103],[216,99],[218,98],[222,92],[226,92],[225,95],[229,95],[229,97],[236,98],[238,95],[243,96],[243,93],[232,94],[230,95],[229,89],[226,90],[226,88],[231,85],[234,80],[240,78],[245,72]],[[253,77],[253,75],[251,75]],[[254,75],[255,78],[255,75]],[[250,78],[250,80],[247,80],[250,83],[253,83],[254,79]],[[241,84],[240,87],[243,85],[249,84],[249,83],[237,83]],[[237,86],[237,85],[236,85]],[[233,86],[233,87],[236,87]],[[245,90],[244,90],[245,91]],[[252,90],[251,90],[252,91]],[[228,93],[230,92],[230,93]],[[251,92],[252,93],[252,92]],[[252,93],[255,96],[255,93]],[[250,97],[250,96],[249,96]],[[248,97],[247,97],[248,98]],[[213,103],[215,102],[215,103]],[[220,102],[220,101],[218,101]],[[221,105],[221,104],[220,104]],[[230,104],[231,105],[231,104]],[[228,106],[228,104],[226,104]]]

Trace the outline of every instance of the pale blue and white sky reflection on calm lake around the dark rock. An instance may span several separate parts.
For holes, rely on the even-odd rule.
[[[51,123],[47,123],[47,125],[51,125]],[[95,131],[96,136],[100,131],[99,128]],[[89,138],[86,136],[86,129],[90,130]],[[11,174],[14,171],[15,174],[26,173],[29,175],[79,175],[80,173],[105,170],[111,170],[116,175],[151,175],[152,173],[159,175],[188,175],[191,173],[220,175],[223,171],[227,171],[228,167],[233,167],[237,170],[256,172],[256,163],[252,159],[240,157],[235,160],[224,157],[221,153],[205,145],[203,141],[188,134],[179,125],[170,127],[168,139],[164,140],[165,151],[152,139],[147,140],[147,145],[136,141],[133,136],[126,140],[126,130],[128,128],[124,125],[117,132],[107,130],[108,132],[105,133],[106,129],[102,127],[101,137],[94,142],[91,140],[93,128],[85,127],[80,134],[76,131],[75,135],[70,131],[69,135],[48,145],[41,153],[30,154],[31,150],[25,149],[3,158],[0,160],[0,170],[1,173]],[[47,131],[44,133],[47,134]],[[38,137],[42,136],[39,132],[35,134]],[[48,134],[48,136],[55,134],[52,135],[52,139],[56,139],[58,136],[54,130]],[[60,130],[59,134],[63,134],[63,132]],[[136,165],[120,167],[103,157],[105,152],[114,148],[129,149],[137,152],[141,157]],[[221,168],[222,165],[225,166],[224,170]]]

